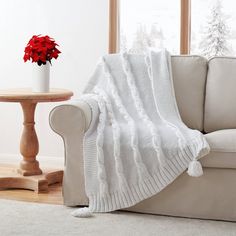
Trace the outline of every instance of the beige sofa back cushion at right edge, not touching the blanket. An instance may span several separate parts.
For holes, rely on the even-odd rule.
[[[204,130],[236,128],[236,58],[215,57],[208,67]]]

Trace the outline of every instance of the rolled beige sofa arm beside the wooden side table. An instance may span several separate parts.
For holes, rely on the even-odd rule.
[[[91,108],[82,101],[57,106],[49,115],[52,130],[62,137],[65,147],[63,199],[67,206],[88,203],[84,186],[83,137],[91,120]]]

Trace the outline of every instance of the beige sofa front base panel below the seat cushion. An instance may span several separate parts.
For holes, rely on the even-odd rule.
[[[204,168],[204,175],[179,176],[159,194],[130,211],[202,219],[236,220],[236,171]]]

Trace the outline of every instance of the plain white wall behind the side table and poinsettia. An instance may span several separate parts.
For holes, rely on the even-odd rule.
[[[108,48],[108,0],[0,0],[0,89],[31,86],[31,62],[23,52],[34,34],[48,34],[60,45],[52,61],[51,87],[68,88],[75,98],[97,59]],[[36,129],[41,156],[62,159],[63,144],[48,125],[54,104],[39,104]],[[19,104],[0,103],[0,162],[19,154],[22,112]]]

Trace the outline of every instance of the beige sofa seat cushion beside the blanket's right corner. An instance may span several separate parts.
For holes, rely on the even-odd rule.
[[[202,157],[203,167],[236,168],[236,129],[218,130],[205,137],[211,151]]]

